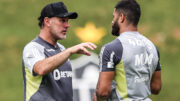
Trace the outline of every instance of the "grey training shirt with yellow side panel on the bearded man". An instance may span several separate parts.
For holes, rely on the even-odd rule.
[[[105,45],[106,53],[112,59],[107,62],[107,66],[102,66],[102,71],[113,68],[115,71],[110,99],[146,99],[151,94],[150,81],[159,60],[153,43],[138,32],[124,32]]]

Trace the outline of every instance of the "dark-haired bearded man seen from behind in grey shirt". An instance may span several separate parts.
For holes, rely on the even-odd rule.
[[[151,93],[160,92],[159,52],[137,32],[140,16],[136,0],[121,0],[115,5],[112,35],[118,38],[102,48],[94,101],[149,101]]]

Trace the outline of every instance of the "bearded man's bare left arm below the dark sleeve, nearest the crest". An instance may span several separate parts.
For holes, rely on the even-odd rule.
[[[108,98],[112,80],[114,78],[114,71],[101,72],[99,75],[99,80],[96,88],[96,98],[94,96],[94,101],[103,101]]]

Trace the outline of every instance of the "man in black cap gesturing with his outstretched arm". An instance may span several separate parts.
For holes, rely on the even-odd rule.
[[[91,55],[86,49],[96,45],[81,43],[65,49],[58,40],[66,38],[69,19],[77,18],[68,12],[63,2],[46,5],[39,19],[39,36],[23,50],[24,101],[73,101],[72,54]]]

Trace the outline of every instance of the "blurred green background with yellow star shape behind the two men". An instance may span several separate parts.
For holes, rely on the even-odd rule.
[[[21,57],[24,46],[39,34],[37,18],[48,3],[59,0],[0,0],[0,101],[23,101]],[[62,0],[78,19],[71,20],[67,39],[70,47],[94,42],[99,54],[111,35],[114,5],[118,0]],[[180,0],[137,0],[142,15],[139,32],[158,47],[162,65],[162,90],[153,101],[180,101]],[[90,33],[90,34],[89,34]],[[91,35],[92,34],[92,35]],[[80,55],[73,55],[71,60]]]

